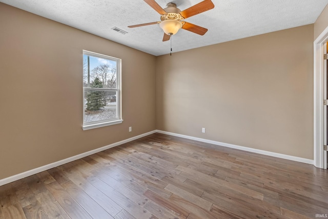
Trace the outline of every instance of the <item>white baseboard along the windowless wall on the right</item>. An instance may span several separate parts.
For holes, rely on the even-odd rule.
[[[238,145],[232,145],[232,144],[223,143],[223,142],[216,142],[216,141],[207,140],[204,138],[193,137],[193,136],[183,135],[183,134],[176,134],[176,133],[167,132],[167,131],[156,130],[156,132],[162,133],[162,134],[168,134],[168,135],[172,135],[172,136],[177,136],[177,137],[183,137],[183,138],[195,140],[198,142],[209,143],[212,145],[219,145],[219,146],[223,146],[223,147],[234,148],[234,149],[239,149],[239,150],[243,150],[243,151],[249,151],[249,152],[273,156],[273,157],[279,157],[279,158],[283,158],[283,159],[290,160],[290,161],[297,161],[297,162],[301,162],[301,163],[305,163],[305,164],[314,165],[314,160],[310,160],[307,158],[291,156],[291,155],[286,155],[286,154],[281,154],[281,153],[275,153],[275,152],[270,152],[270,151],[264,151],[264,150],[254,149],[254,148],[248,148],[248,147],[243,147],[243,146],[238,146]]]

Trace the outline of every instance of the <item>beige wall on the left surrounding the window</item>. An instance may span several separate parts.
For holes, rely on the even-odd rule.
[[[0,30],[0,179],[156,129],[155,56],[2,3]],[[122,59],[122,124],[82,130],[84,49]]]

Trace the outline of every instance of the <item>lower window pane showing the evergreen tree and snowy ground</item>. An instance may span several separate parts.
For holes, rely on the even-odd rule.
[[[117,91],[85,91],[84,123],[117,119],[116,96]]]

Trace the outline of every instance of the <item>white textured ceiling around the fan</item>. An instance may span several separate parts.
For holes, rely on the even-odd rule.
[[[170,53],[158,25],[128,28],[160,21],[142,0],[0,0],[5,4],[153,54]],[[182,11],[201,0],[157,0],[162,8],[173,2]],[[328,0],[212,0],[215,8],[189,17],[187,22],[209,29],[200,36],[186,30],[172,37],[173,52],[232,41],[313,24]],[[112,30],[117,27],[128,32]]]

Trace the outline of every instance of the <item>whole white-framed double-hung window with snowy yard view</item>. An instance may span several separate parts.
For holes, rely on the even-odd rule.
[[[83,51],[83,130],[122,123],[119,58]]]

